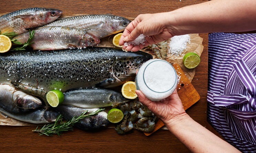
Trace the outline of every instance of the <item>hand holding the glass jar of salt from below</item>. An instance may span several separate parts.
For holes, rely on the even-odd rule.
[[[186,114],[180,97],[177,93],[177,89],[162,101],[151,101],[146,98],[145,95],[140,91],[136,90],[139,101],[145,105],[152,113],[160,118],[164,124],[169,124],[171,119]]]

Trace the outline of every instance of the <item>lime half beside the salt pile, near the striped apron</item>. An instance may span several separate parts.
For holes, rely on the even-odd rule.
[[[194,52],[186,53],[183,57],[183,64],[186,68],[195,68],[200,63],[200,56]]]

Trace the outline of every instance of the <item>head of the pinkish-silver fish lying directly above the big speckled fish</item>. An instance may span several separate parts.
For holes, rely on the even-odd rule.
[[[83,38],[80,41],[80,46],[83,48],[95,46],[99,42],[100,42],[99,38],[97,38],[93,34],[86,33],[86,34],[84,34]]]

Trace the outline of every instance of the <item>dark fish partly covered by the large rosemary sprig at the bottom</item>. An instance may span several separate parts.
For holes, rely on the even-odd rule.
[[[70,120],[75,116],[79,116],[85,111],[88,111],[86,114],[89,114],[93,111],[98,110],[98,109],[82,109],[82,108],[65,106],[65,105],[57,106],[56,109],[63,115],[63,118],[65,120]],[[106,127],[109,124],[110,122],[107,119],[107,113],[99,112],[95,116],[81,119],[81,122],[76,123],[75,126],[83,130],[96,130],[96,129]]]

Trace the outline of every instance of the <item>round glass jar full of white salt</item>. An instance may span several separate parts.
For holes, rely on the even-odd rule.
[[[176,89],[177,73],[167,61],[152,59],[144,63],[135,78],[136,89],[152,101],[163,100]]]

